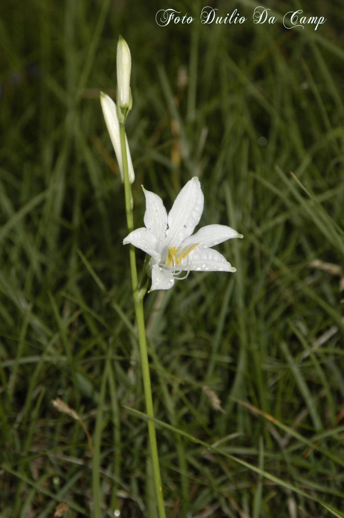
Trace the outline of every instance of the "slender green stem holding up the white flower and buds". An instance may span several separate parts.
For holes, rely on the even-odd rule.
[[[125,126],[124,123],[120,123],[120,137],[121,137],[121,152],[122,152],[122,163],[123,163],[123,179],[124,179],[124,192],[125,192],[125,211],[128,231],[132,232],[134,229],[134,218],[133,218],[133,207],[132,207],[132,190],[129,181],[128,173],[128,162],[126,154],[125,144]],[[144,317],[144,305],[142,297],[139,294],[135,249],[130,245],[130,269],[132,276],[132,288],[134,297],[135,316],[138,330],[138,343],[140,349],[141,358],[141,370],[142,378],[144,380],[144,392],[146,400],[146,412],[148,418],[154,418],[153,411],[153,399],[152,399],[152,387],[149,373],[149,362],[148,362],[148,351],[146,342],[146,328],[145,328],[145,317]],[[148,419],[148,434],[150,443],[150,453],[153,466],[153,477],[155,484],[157,508],[159,510],[159,518],[166,518],[164,496],[161,484],[159,455],[157,452],[157,443],[155,435],[155,425],[151,419]]]

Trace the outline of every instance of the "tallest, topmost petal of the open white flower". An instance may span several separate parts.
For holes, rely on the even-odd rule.
[[[195,176],[184,185],[168,214],[169,229],[166,233],[165,247],[178,247],[193,233],[202,215],[203,205],[203,192]]]

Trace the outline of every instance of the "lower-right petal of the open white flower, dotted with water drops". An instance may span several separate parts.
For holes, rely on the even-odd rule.
[[[236,271],[226,258],[217,250],[196,248],[181,262],[182,270],[194,271]]]

